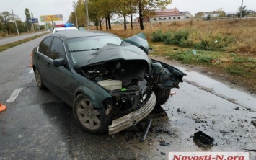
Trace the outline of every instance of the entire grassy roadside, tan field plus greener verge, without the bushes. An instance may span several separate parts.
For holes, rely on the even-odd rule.
[[[256,20],[255,19],[231,19],[216,21],[193,20],[185,22],[166,22],[145,24],[145,30],[141,31],[136,24],[131,30],[123,30],[123,25],[112,25],[110,32],[120,37],[131,37],[144,32],[149,45],[154,48],[154,55],[162,55],[176,59],[185,64],[200,65],[213,72],[216,77],[222,75],[222,79],[233,84],[245,87],[252,92],[256,91]],[[195,48],[181,48],[175,45],[164,45],[164,43],[152,43],[152,33],[157,30],[162,32],[177,32],[188,30],[190,32],[187,40],[197,44],[201,40],[212,43],[215,37],[231,37],[224,50],[197,50],[197,55],[192,54]],[[220,44],[221,45],[221,44]]]

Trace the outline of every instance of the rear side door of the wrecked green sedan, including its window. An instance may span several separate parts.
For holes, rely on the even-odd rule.
[[[43,84],[46,87],[50,87],[50,73],[48,72],[48,61],[50,53],[50,44],[53,41],[53,37],[46,37],[40,44],[38,51],[35,52],[34,61],[35,68],[39,71]]]

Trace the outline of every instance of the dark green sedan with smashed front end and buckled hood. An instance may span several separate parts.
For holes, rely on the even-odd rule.
[[[148,52],[143,34],[121,40],[107,32],[65,32],[45,37],[32,63],[37,86],[71,106],[82,130],[115,134],[167,102],[185,76]]]

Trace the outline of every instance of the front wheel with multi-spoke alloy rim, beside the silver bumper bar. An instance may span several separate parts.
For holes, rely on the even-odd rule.
[[[112,114],[105,114],[102,110],[94,109],[90,99],[79,94],[74,100],[73,112],[81,130],[94,135],[107,132]]]

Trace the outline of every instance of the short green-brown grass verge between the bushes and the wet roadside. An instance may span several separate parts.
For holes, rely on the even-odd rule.
[[[180,61],[183,64],[203,66],[213,76],[245,87],[250,92],[256,91],[256,58],[254,54],[226,53],[222,51],[195,50],[180,48],[163,43],[150,43],[154,48],[152,55],[163,56]]]

